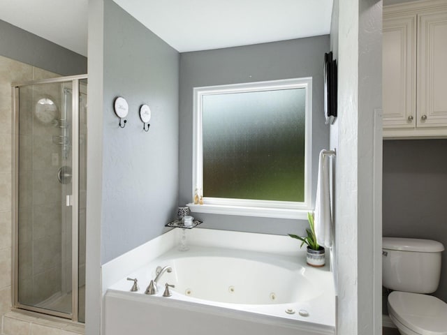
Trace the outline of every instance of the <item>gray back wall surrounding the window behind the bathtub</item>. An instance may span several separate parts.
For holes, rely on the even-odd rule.
[[[186,52],[180,55],[179,91],[179,205],[191,202],[193,87],[219,84],[313,77],[312,199],[316,194],[318,153],[329,144],[329,128],[323,119],[323,59],[329,36],[316,36],[274,43]],[[307,221],[198,214],[203,228],[301,234]]]

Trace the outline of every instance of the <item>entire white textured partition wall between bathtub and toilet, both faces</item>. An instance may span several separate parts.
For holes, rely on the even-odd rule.
[[[374,209],[374,187],[380,184],[374,180],[374,110],[381,107],[381,1],[336,0],[335,9],[331,47],[337,50],[339,100],[330,143],[337,148],[337,332],[381,334],[381,221]]]

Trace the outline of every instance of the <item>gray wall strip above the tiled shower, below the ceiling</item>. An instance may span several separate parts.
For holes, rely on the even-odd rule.
[[[87,57],[0,20],[1,56],[60,75],[87,73]]]

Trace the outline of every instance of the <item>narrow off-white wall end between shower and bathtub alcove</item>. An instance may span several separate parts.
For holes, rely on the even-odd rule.
[[[85,334],[101,329],[101,203],[103,189],[103,0],[89,0]]]

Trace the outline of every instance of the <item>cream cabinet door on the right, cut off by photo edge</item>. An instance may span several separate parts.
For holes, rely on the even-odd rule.
[[[418,16],[418,127],[447,126],[447,9]]]

